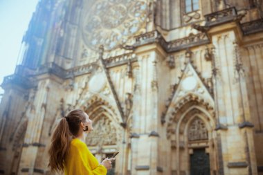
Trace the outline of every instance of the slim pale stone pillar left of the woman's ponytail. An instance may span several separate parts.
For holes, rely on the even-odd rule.
[[[35,100],[26,111],[28,127],[26,129],[18,174],[34,174],[38,149],[39,147],[44,147],[44,144],[40,142],[40,137],[48,100],[48,82],[48,80],[39,82],[39,89],[36,92]]]

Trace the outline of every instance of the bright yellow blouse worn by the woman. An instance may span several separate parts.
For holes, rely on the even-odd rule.
[[[71,140],[64,172],[65,175],[106,175],[107,169],[98,163],[84,142],[74,138]]]

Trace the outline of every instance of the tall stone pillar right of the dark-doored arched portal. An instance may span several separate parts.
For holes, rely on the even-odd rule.
[[[217,84],[217,133],[219,174],[257,174],[253,150],[253,125],[250,114],[246,84],[240,77],[237,59],[237,36],[233,30],[212,35],[215,46]],[[233,44],[234,42],[234,44]],[[214,68],[215,70],[215,68]],[[220,160],[221,158],[221,160]]]

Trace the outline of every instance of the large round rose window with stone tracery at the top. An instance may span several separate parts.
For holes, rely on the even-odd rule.
[[[127,43],[145,24],[147,8],[142,0],[94,1],[83,21],[84,42],[93,50],[101,44],[111,50]]]

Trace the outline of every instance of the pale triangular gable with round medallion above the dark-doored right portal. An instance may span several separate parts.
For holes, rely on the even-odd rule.
[[[190,116],[201,112],[200,108],[196,108],[193,105],[204,107],[204,110],[208,111],[210,116],[213,116],[215,102],[212,95],[192,64],[188,62],[180,77],[179,84],[176,86],[170,104],[167,105],[167,111],[162,120],[163,123],[167,121],[167,138],[175,134],[176,123],[181,120],[185,111],[191,109],[192,114]]]

